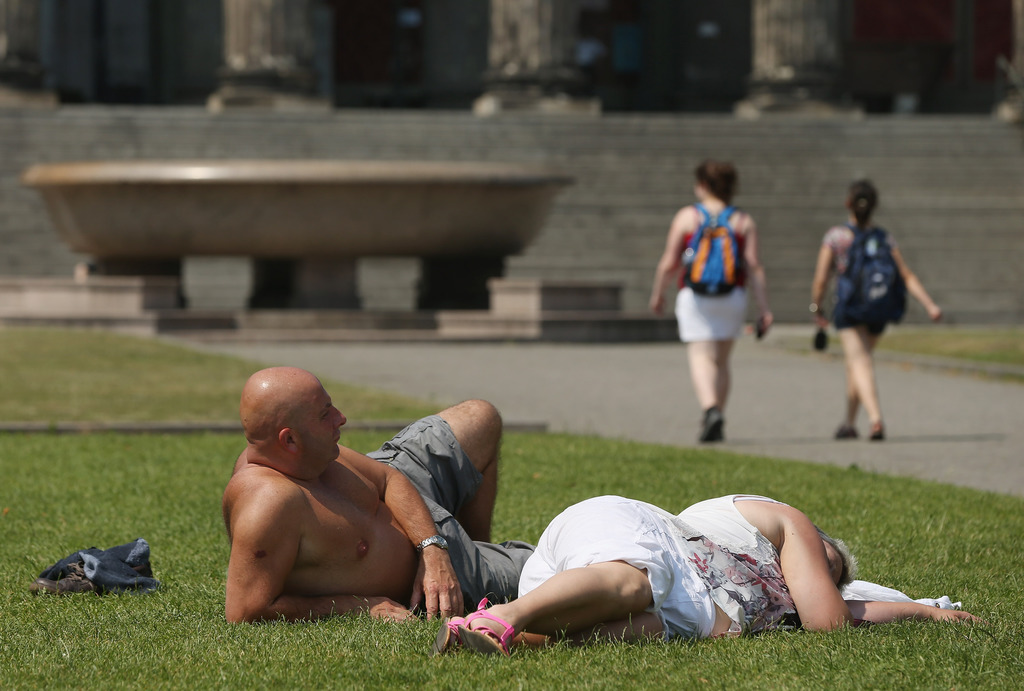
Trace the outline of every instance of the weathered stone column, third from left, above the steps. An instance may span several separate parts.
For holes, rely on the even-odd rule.
[[[579,0],[490,0],[485,91],[477,115],[503,111],[599,113],[575,63]]]

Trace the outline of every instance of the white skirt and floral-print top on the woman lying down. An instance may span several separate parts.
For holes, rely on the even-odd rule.
[[[662,619],[666,638],[711,636],[716,605],[732,619],[731,635],[778,625],[795,611],[793,600],[777,551],[732,506],[743,499],[773,501],[723,496],[695,505],[689,516],[623,496],[573,505],[541,535],[519,578],[519,597],[561,571],[622,561],[646,571],[647,611]]]

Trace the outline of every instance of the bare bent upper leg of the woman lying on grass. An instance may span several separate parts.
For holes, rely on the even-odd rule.
[[[517,632],[555,636],[625,621],[642,614],[652,598],[646,572],[612,561],[556,573],[519,599],[487,611]],[[646,619],[641,621],[650,624]],[[471,621],[470,629],[480,628],[502,633],[484,617]],[[649,631],[649,627],[645,629]]]

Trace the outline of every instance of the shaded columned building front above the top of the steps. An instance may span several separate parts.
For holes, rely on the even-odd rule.
[[[1024,73],[1022,34],[1020,0],[0,0],[0,86],[37,104],[979,113]]]

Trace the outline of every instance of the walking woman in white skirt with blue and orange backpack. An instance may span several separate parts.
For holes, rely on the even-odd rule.
[[[650,295],[651,311],[662,314],[667,284],[678,276],[676,317],[679,338],[687,344],[690,377],[703,412],[701,442],[725,438],[729,356],[743,328],[748,285],[758,306],[759,335],[764,335],[772,323],[764,267],[758,257],[757,224],[750,214],[730,206],[736,181],[736,169],[730,163],[708,160],[697,166],[693,189],[697,203],[680,209],[673,219]],[[712,232],[717,233],[720,247],[702,251],[700,240]],[[712,283],[695,277],[705,255],[710,255],[710,262],[716,256],[723,257],[720,263],[726,269],[725,278]]]

